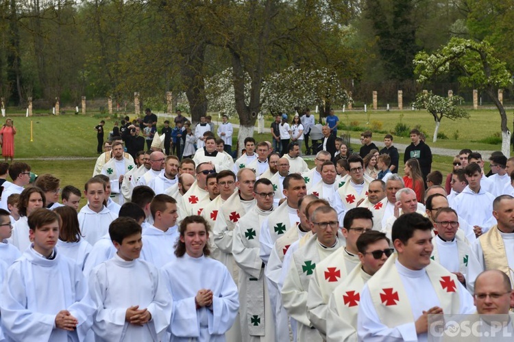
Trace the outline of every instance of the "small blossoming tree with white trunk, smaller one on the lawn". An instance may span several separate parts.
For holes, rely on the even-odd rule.
[[[437,133],[443,118],[450,120],[469,118],[467,111],[458,107],[458,103],[462,100],[461,96],[442,97],[432,94],[432,92],[423,92],[417,95],[413,106],[417,109],[426,109],[434,117],[435,130],[432,142],[437,142]]]

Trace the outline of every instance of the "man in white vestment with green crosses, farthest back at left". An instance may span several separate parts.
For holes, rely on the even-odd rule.
[[[101,169],[101,174],[109,177],[111,192],[116,194],[113,198],[114,202],[123,205],[123,202],[125,202],[121,193],[123,178],[125,173],[136,168],[136,166],[134,161],[123,157],[123,144],[121,142],[112,143],[112,156],[112,159],[105,163]]]

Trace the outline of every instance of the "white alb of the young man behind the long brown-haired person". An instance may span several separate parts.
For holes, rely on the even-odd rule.
[[[85,205],[79,211],[80,232],[89,244],[94,245],[103,235],[109,233],[110,222],[116,218],[117,216],[105,206],[96,213]]]

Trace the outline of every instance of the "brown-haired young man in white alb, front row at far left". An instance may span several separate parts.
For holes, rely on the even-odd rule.
[[[37,209],[29,228],[34,242],[3,282],[3,334],[7,341],[84,341],[96,307],[79,267],[56,249],[59,216]]]

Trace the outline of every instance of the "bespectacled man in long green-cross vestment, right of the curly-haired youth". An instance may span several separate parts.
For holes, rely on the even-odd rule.
[[[242,341],[276,341],[275,308],[269,300],[258,240],[262,221],[273,212],[273,185],[269,179],[256,181],[254,198],[256,205],[236,223],[232,235],[232,255],[241,268],[238,279],[241,336]]]

